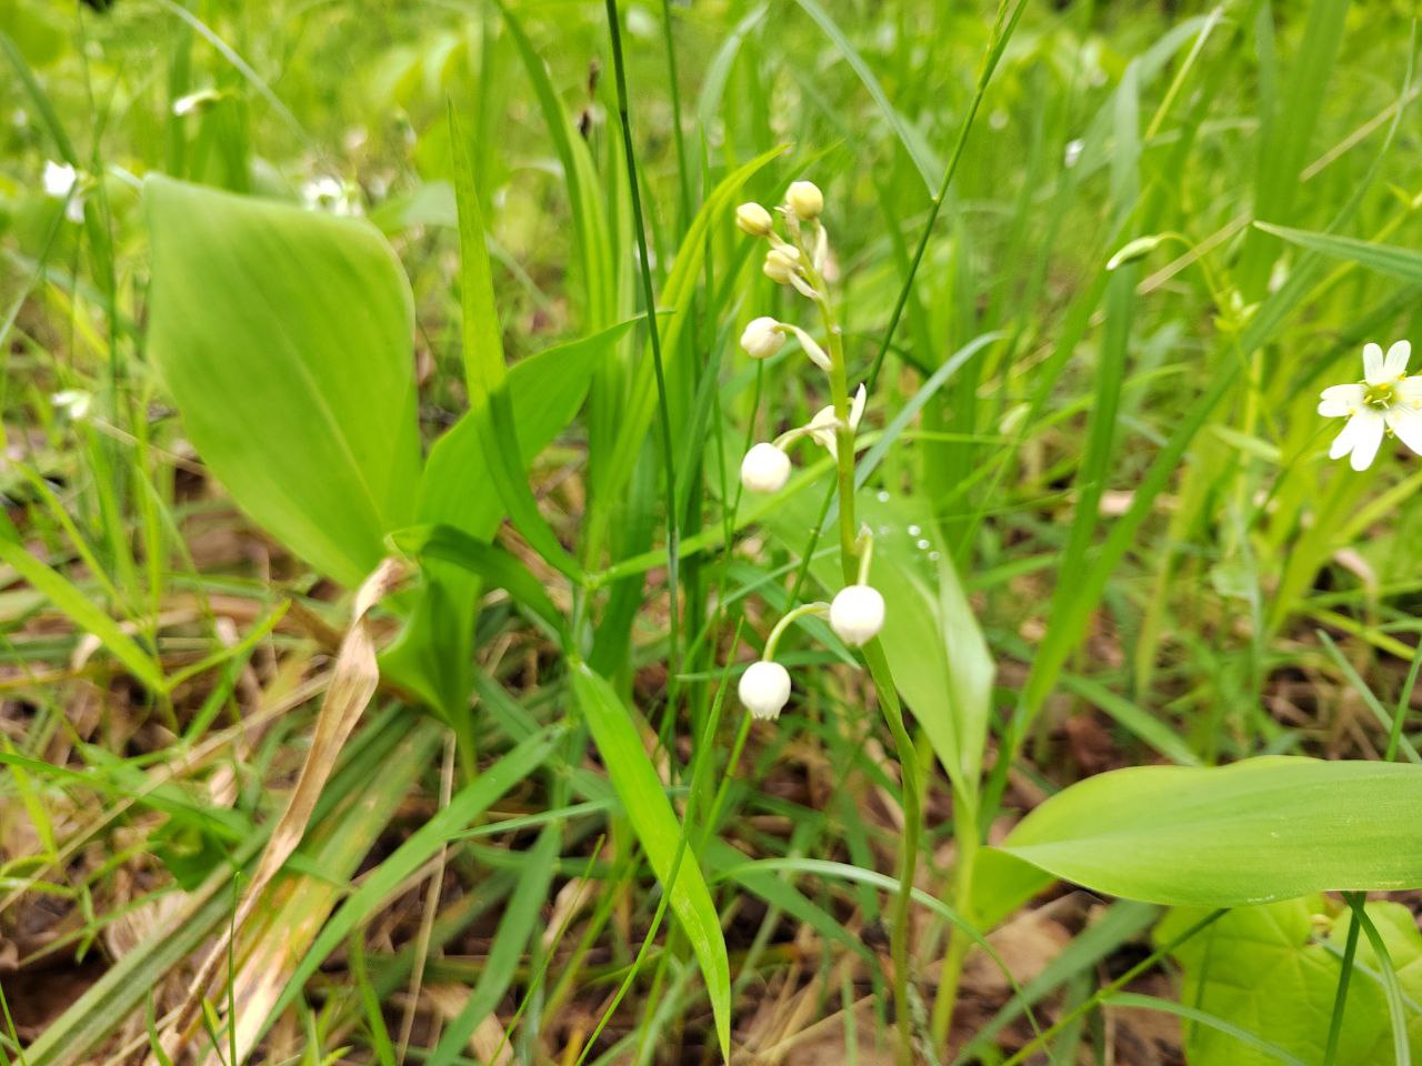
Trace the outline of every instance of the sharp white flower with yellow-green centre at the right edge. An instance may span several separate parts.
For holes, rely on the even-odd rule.
[[[1408,341],[1398,341],[1386,355],[1379,345],[1367,344],[1362,381],[1322,391],[1318,414],[1348,419],[1328,449],[1331,459],[1347,455],[1352,469],[1367,470],[1389,432],[1422,455],[1422,378],[1406,375],[1411,354]]]

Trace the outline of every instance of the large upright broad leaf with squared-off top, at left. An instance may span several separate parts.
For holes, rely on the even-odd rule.
[[[199,455],[259,524],[357,586],[414,517],[414,313],[365,222],[144,183],[148,350]]]

